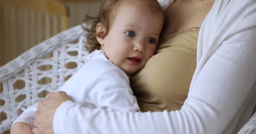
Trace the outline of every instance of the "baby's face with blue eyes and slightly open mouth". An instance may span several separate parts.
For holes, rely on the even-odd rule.
[[[125,4],[117,11],[102,50],[117,67],[132,74],[155,54],[162,27],[162,13]]]

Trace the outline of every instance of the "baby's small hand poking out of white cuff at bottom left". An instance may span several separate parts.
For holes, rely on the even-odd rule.
[[[17,122],[13,125],[11,129],[12,134],[33,134],[32,128],[29,126],[29,124],[26,124],[24,122]]]

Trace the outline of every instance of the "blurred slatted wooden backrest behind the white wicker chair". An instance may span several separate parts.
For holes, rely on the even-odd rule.
[[[0,66],[69,28],[69,11],[57,0],[0,0]]]

